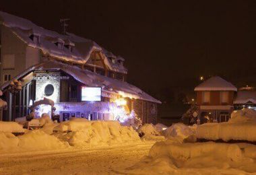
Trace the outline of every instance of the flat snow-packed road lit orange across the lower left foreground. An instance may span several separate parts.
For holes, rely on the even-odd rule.
[[[0,155],[0,174],[116,174],[148,155],[153,144]]]

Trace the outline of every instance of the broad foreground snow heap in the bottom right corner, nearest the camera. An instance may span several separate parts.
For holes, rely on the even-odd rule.
[[[256,172],[255,145],[160,141],[127,174],[247,174]]]

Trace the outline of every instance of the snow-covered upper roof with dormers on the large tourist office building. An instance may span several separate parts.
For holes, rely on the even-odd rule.
[[[45,55],[51,55],[65,61],[74,61],[76,63],[84,64],[90,58],[92,51],[102,51],[103,48],[96,42],[76,36],[75,34],[67,33],[67,35],[59,34],[51,30],[46,30],[36,24],[26,20],[22,17],[11,15],[0,11],[0,24],[8,27],[13,34],[18,36],[23,42],[34,48],[39,48]],[[40,42],[35,43],[30,38],[32,34],[40,36]],[[55,42],[58,40],[67,41],[74,47],[73,51],[69,48],[58,48]],[[110,70],[127,73],[127,69],[119,63],[111,63],[108,59],[104,59],[104,63]]]

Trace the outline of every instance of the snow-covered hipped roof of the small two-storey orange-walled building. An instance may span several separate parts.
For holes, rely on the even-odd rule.
[[[232,83],[216,76],[197,85],[195,91],[237,91],[237,89]]]

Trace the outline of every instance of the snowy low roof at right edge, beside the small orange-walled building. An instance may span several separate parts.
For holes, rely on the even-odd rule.
[[[252,102],[256,104],[256,91],[238,91],[234,104],[245,104]]]

